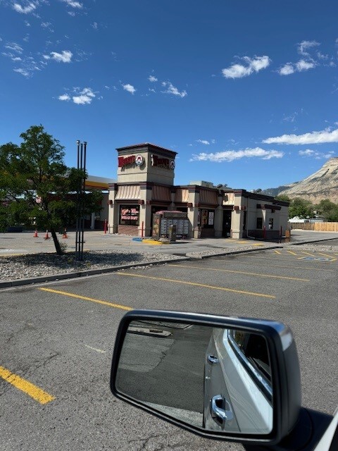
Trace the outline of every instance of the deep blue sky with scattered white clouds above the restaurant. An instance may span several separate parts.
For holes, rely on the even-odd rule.
[[[42,124],[115,178],[116,147],[177,154],[175,183],[254,190],[338,156],[338,2],[0,0],[0,144]]]

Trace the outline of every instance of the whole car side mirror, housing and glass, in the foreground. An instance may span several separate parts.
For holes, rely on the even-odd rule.
[[[113,394],[208,438],[274,445],[301,407],[296,345],[282,323],[175,311],[120,322]]]

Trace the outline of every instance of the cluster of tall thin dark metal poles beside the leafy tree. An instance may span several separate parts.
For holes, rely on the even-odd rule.
[[[77,169],[82,172],[76,192],[76,235],[75,235],[75,259],[83,260],[84,245],[84,195],[86,183],[86,154],[87,142],[77,140]]]

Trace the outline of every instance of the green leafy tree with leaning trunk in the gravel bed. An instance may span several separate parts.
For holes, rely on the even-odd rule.
[[[56,230],[75,221],[76,192],[87,175],[65,166],[63,146],[42,125],[32,125],[20,137],[19,146],[0,146],[0,228],[20,223],[50,230],[61,255]],[[101,192],[87,192],[84,214],[100,211],[101,199]]]

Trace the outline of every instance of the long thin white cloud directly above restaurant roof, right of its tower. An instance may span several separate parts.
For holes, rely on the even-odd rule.
[[[190,161],[213,161],[215,163],[222,163],[223,161],[234,161],[242,158],[259,158],[263,160],[270,160],[272,158],[282,158],[284,152],[277,150],[264,150],[260,147],[255,149],[243,150],[225,150],[223,152],[215,152],[215,154],[193,154]]]

